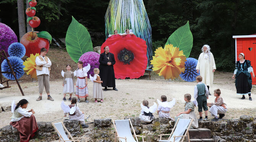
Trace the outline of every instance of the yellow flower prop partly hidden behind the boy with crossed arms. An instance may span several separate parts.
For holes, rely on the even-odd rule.
[[[31,78],[37,79],[36,76],[36,57],[39,56],[37,53],[36,55],[30,54],[30,57],[27,58],[25,62],[23,62],[23,65],[25,68],[23,70],[30,76]]]

